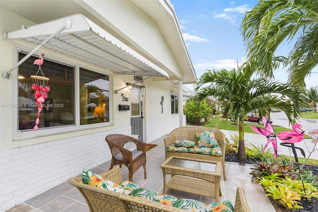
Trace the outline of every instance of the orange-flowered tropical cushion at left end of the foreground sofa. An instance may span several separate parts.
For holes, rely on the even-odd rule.
[[[108,191],[118,192],[121,194],[131,194],[131,190],[121,187],[120,185],[106,180],[105,178],[93,173],[92,171],[87,171],[83,169],[82,182],[86,185],[94,186],[100,189],[106,189]]]

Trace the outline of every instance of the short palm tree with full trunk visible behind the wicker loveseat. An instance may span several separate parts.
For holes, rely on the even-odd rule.
[[[253,71],[244,64],[239,70],[208,70],[195,86],[196,100],[212,96],[222,102],[226,117],[239,120],[238,158],[246,159],[244,144],[244,116],[255,108],[259,115],[268,115],[267,107],[278,107],[283,110],[291,123],[298,117],[296,107],[300,107],[304,95],[297,86],[279,82],[268,82],[265,78],[252,79]],[[277,95],[288,97],[284,102]]]

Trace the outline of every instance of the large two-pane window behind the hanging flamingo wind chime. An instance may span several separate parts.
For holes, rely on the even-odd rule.
[[[25,55],[19,52],[18,60]],[[35,59],[37,57],[31,56],[18,68],[17,130],[31,131],[38,115],[39,130],[109,121],[109,76],[83,68],[79,68],[79,73],[76,73],[75,66],[48,58],[45,58],[41,70],[50,79],[47,85],[50,91],[38,113],[35,90],[32,89],[33,81],[30,78],[39,68],[33,65]],[[75,80],[77,74],[79,85]],[[76,110],[77,105],[79,111]]]

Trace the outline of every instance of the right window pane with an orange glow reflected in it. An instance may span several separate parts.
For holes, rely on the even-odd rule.
[[[109,121],[109,77],[79,68],[80,125]]]

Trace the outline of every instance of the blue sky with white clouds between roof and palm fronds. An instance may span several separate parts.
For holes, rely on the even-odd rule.
[[[197,77],[209,69],[237,69],[246,55],[239,31],[243,13],[258,0],[170,0],[174,6],[183,38]],[[285,55],[293,46],[285,43],[275,53]],[[318,72],[317,68],[315,68]],[[274,72],[275,81],[287,83],[287,69]],[[317,86],[318,74],[306,79],[306,87]],[[192,89],[192,86],[188,85]]]

